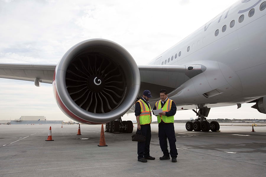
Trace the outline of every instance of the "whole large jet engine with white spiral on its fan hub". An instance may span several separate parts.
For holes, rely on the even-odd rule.
[[[53,89],[60,109],[78,122],[99,124],[124,115],[136,101],[140,72],[120,45],[82,41],[56,66]]]

